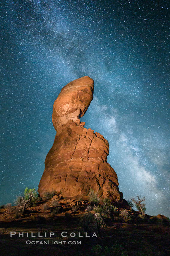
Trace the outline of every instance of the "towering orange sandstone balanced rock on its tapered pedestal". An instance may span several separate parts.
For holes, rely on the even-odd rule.
[[[60,191],[64,197],[86,198],[89,189],[122,200],[118,178],[107,163],[109,143],[100,133],[80,122],[93,99],[94,82],[84,76],[64,86],[53,105],[52,121],[57,131],[46,156],[38,192]]]

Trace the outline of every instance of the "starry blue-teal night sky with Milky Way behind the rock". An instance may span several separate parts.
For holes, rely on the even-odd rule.
[[[170,217],[168,1],[1,1],[0,204],[38,189],[61,88],[90,76],[86,128],[110,144],[124,198]]]

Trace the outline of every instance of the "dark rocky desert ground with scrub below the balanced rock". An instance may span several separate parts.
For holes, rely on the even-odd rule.
[[[88,201],[57,196],[34,203],[24,215],[19,207],[2,206],[1,255],[170,255],[166,217],[142,217],[139,212],[125,210],[128,217],[125,214],[124,218],[121,210],[117,208],[109,218],[96,214]],[[98,226],[93,222],[96,219]],[[90,237],[85,237],[85,231]]]

